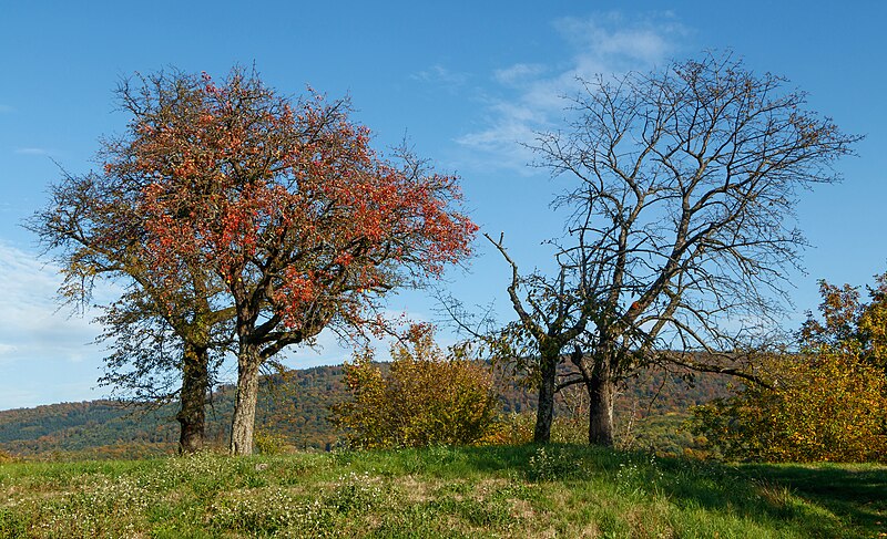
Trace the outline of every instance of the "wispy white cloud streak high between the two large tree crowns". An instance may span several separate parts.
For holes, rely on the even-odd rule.
[[[550,65],[516,63],[492,73],[483,126],[457,142],[485,166],[528,173],[534,133],[551,129],[579,89],[578,79],[650,69],[679,50],[686,30],[670,13],[626,19],[619,13],[563,18],[553,27],[571,52]]]

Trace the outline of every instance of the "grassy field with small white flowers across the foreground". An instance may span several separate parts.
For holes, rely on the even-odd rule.
[[[572,445],[11,463],[0,537],[887,537],[887,467]]]

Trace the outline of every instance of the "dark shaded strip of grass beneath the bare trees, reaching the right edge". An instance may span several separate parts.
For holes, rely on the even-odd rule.
[[[429,447],[340,454],[339,464],[399,476],[522,477],[583,481],[642,497],[664,497],[679,511],[740,517],[799,537],[887,537],[887,467],[877,465],[740,465],[655,458],[570,444]],[[540,459],[540,450],[547,458]],[[358,457],[359,455],[359,457]],[[536,460],[533,460],[536,459]],[[540,463],[543,469],[538,469]],[[623,484],[624,483],[624,484]],[[581,487],[580,487],[581,488]],[[652,499],[652,498],[651,498]],[[686,515],[686,514],[685,514]],[[676,518],[683,518],[677,516]]]

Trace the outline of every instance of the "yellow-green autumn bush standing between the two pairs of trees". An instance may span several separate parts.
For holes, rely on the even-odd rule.
[[[412,331],[391,349],[385,374],[371,350],[345,365],[351,400],[334,408],[334,423],[356,447],[475,444],[492,434],[497,400],[490,370],[445,356],[429,331]]]

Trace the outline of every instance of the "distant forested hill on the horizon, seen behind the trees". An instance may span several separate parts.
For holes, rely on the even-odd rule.
[[[618,429],[629,422],[657,425],[671,429],[674,437],[690,406],[730,393],[730,380],[713,375],[701,376],[689,386],[677,375],[651,372],[632,380],[616,400]],[[579,387],[575,395],[580,394]],[[534,410],[531,392],[513,383],[499,387],[504,413],[529,413]],[[256,429],[286,439],[297,448],[328,450],[338,437],[329,423],[329,407],[347,397],[343,367],[318,366],[292,371],[282,383],[278,376],[263,379],[256,414]],[[561,398],[558,414],[563,416],[581,407],[581,402],[568,395]],[[223,386],[212,396],[207,408],[207,438],[224,447],[234,408],[234,391]],[[78,458],[145,457],[170,454],[179,440],[175,404],[152,410],[146,406],[124,406],[113,401],[62,403],[34,408],[0,412],[0,450],[19,456],[51,458],[54,455]],[[662,417],[671,419],[662,421]],[[659,418],[653,421],[653,418]],[[662,427],[667,424],[667,427]],[[642,433],[641,439],[644,439]],[[646,440],[651,445],[661,440]],[[680,442],[667,444],[681,445]]]

